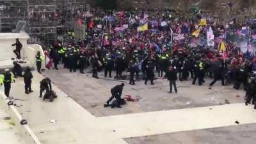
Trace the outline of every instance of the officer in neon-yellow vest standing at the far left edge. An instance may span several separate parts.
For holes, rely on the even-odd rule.
[[[10,70],[8,68],[4,71],[4,74],[0,75],[0,84],[4,84],[4,94],[6,95],[6,97],[9,97],[11,83],[15,83],[15,80],[13,79],[13,75],[10,73]]]

